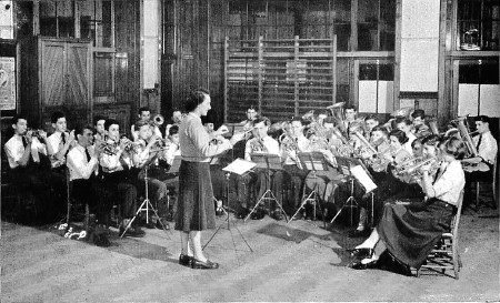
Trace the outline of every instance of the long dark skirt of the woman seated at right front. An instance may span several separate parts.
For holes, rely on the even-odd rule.
[[[453,209],[437,199],[410,205],[386,204],[377,231],[398,261],[419,269],[442,233],[450,231]]]

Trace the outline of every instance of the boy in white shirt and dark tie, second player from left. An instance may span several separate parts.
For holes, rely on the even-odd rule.
[[[52,168],[64,174],[66,154],[74,143],[74,132],[68,133],[64,113],[54,112],[50,117],[54,132],[47,139],[47,151],[49,152]],[[66,175],[66,174],[64,174]]]

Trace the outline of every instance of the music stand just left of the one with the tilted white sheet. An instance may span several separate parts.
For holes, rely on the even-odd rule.
[[[314,179],[314,185],[312,186],[311,193],[306,196],[302,200],[302,203],[300,204],[299,209],[296,211],[296,213],[290,218],[290,221],[293,221],[293,218],[300,212],[301,209],[306,208],[307,203],[312,203],[313,206],[313,218],[316,218],[316,204],[319,202],[319,193],[318,193],[318,171],[327,171],[328,164],[324,161],[324,155],[321,152],[299,152],[298,158],[300,163],[302,164],[302,168],[311,171],[312,176]],[[306,186],[304,186],[306,189]],[[321,205],[320,205],[321,206]],[[324,223],[324,215],[321,212],[321,216],[323,219]],[[326,223],[324,223],[326,224]]]

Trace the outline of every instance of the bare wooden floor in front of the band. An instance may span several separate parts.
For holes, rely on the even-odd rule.
[[[500,300],[497,210],[462,216],[460,280],[354,271],[346,249],[360,240],[346,238],[343,226],[327,231],[318,221],[231,219],[231,229],[221,229],[206,248],[221,263],[213,271],[179,265],[173,231],[114,235],[111,246],[99,248],[47,228],[1,226],[1,302]],[[204,242],[212,233],[203,232]]]

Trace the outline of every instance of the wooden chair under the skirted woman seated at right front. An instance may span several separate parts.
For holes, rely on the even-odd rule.
[[[420,267],[420,270],[441,270],[444,274],[447,270],[453,270],[454,279],[459,279],[459,271],[462,266],[462,262],[459,255],[459,225],[460,214],[462,212],[463,191],[460,193],[457,202],[457,214],[451,221],[450,232],[443,233],[438,244],[430,252],[427,257],[427,263]],[[417,276],[420,275],[420,270],[417,270]]]

